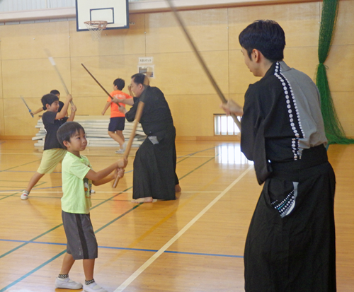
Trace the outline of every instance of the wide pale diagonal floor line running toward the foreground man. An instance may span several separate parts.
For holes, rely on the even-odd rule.
[[[229,185],[229,187],[224,189],[224,191],[220,193],[215,199],[213,199],[212,202],[210,202],[210,204],[208,204],[204,209],[202,209],[202,211],[200,211],[200,213],[197,216],[195,216],[186,226],[184,226],[176,235],[174,235],[173,238],[171,238],[171,240],[169,240],[169,242],[166,243],[166,245],[161,247],[160,250],[158,250],[152,257],[150,257],[147,260],[147,262],[142,264],[142,266],[139,267],[139,269],[137,269],[137,271],[135,271],[128,279],[126,279],[118,288],[116,288],[114,292],[124,291],[125,288],[127,288],[127,286],[129,286],[132,283],[132,281],[137,279],[139,274],[142,274],[142,272],[145,269],[147,269],[147,267],[149,267],[149,265],[152,264],[155,261],[155,259],[157,259],[160,255],[162,255],[176,240],[178,240],[178,238],[181,237],[181,235],[183,235],[183,233],[185,233],[185,231],[187,231],[191,226],[193,226],[193,224],[196,221],[198,221],[198,219],[201,216],[203,216],[213,205],[215,205],[215,203],[217,203],[217,201],[219,201],[219,199],[221,199],[224,196],[224,194],[229,192],[229,189],[234,187],[234,185],[236,185],[236,183],[239,182],[241,178],[244,177],[246,173],[248,173],[252,169],[253,169],[253,165],[251,165],[249,168],[247,168],[244,171],[244,173],[242,173],[239,177],[237,177],[236,180],[234,180],[234,182],[232,182],[232,184]]]

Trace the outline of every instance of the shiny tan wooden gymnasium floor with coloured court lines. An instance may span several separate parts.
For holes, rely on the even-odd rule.
[[[182,187],[176,201],[130,202],[134,148],[118,187],[95,187],[95,279],[109,292],[244,291],[244,241],[261,191],[253,165],[238,143],[178,141],[176,146]],[[83,154],[100,170],[118,157],[114,150],[89,148]],[[352,292],[354,145],[331,145],[329,157],[337,177],[338,292]],[[66,248],[60,165],[27,201],[20,199],[40,158],[33,141],[0,141],[0,292],[67,291],[54,287]],[[84,281],[81,261],[70,278]]]

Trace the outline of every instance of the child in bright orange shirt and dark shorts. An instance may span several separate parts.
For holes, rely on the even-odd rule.
[[[127,93],[123,93],[122,89],[125,86],[125,81],[121,78],[115,79],[113,81],[113,91],[110,93],[110,96],[113,98],[118,98],[118,100],[126,100],[132,98]],[[119,106],[125,107],[124,103],[113,103],[111,98],[108,97],[105,108],[102,111],[102,115],[105,115],[106,110],[110,106],[110,124],[108,126],[108,135],[115,141],[119,143],[120,148],[115,151],[115,153],[124,153],[126,143],[123,136],[123,130],[125,126],[125,115],[120,112]]]

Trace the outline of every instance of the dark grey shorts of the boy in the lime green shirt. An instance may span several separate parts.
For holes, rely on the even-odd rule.
[[[74,259],[96,259],[98,245],[90,214],[73,214],[62,211],[67,253]]]

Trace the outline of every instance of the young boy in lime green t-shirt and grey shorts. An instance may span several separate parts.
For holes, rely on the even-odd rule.
[[[103,185],[123,177],[125,158],[97,173],[89,160],[80,155],[87,145],[84,128],[77,122],[67,122],[57,131],[57,139],[67,154],[62,161],[62,220],[67,235],[67,253],[62,269],[55,280],[56,288],[81,289],[86,292],[107,292],[93,279],[93,267],[98,257],[98,245],[90,220],[91,185]],[[112,173],[115,170],[115,173]],[[84,286],[69,279],[69,271],[76,259],[83,259]]]

